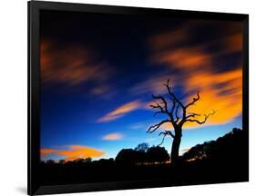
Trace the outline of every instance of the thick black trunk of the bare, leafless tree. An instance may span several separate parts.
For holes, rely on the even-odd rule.
[[[177,163],[179,161],[179,145],[181,142],[181,129],[176,130],[175,136],[173,138],[171,152],[170,152],[170,161],[171,163]]]

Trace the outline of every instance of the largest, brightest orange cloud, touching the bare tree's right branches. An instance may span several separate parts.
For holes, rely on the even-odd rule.
[[[199,73],[190,76],[186,83],[186,90],[194,88],[200,90],[200,101],[189,107],[190,113],[210,113],[211,109],[217,111],[210,116],[205,125],[230,122],[241,114],[242,109],[242,71],[232,70],[225,73]],[[189,97],[188,101],[192,98]],[[201,118],[204,118],[201,115]],[[200,119],[200,118],[199,118]],[[202,120],[202,119],[201,119]],[[196,126],[195,122],[188,122],[186,126]]]

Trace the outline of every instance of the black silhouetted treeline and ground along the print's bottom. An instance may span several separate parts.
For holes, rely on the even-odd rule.
[[[41,184],[165,179],[167,185],[248,181],[248,132],[234,128],[216,141],[190,148],[175,164],[159,146],[140,143],[123,149],[115,159],[91,158],[41,162]]]

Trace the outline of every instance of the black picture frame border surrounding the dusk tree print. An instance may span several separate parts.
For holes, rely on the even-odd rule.
[[[138,8],[112,5],[86,5],[71,3],[56,3],[43,1],[28,2],[28,167],[27,194],[53,194],[80,191],[110,191],[138,188],[166,187],[168,181],[116,181],[106,183],[72,184],[57,186],[41,186],[38,182],[38,163],[40,146],[40,69],[39,69],[39,12],[40,10],[63,10],[90,13],[108,13],[122,15],[150,15],[161,17],[203,18],[243,22],[243,76],[242,76],[242,128],[249,130],[249,15],[225,14],[198,11],[169,10],[159,8]],[[249,132],[248,132],[249,141]],[[249,149],[249,144],[248,144]],[[249,153],[249,150],[248,150]],[[249,154],[248,154],[249,157]],[[248,160],[249,181],[249,160]]]

